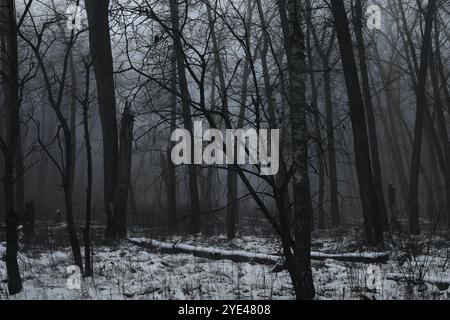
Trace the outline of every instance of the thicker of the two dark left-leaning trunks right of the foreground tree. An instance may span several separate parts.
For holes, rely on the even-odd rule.
[[[367,136],[364,100],[358,78],[358,68],[353,54],[352,38],[343,1],[331,2],[336,34],[341,52],[344,77],[350,106],[353,142],[367,242],[379,245],[383,241],[378,201],[372,175],[369,139]]]

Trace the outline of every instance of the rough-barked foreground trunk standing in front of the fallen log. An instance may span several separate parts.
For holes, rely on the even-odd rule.
[[[282,245],[297,299],[315,296],[311,271],[311,216],[312,203],[308,176],[308,126],[305,78],[305,38],[300,1],[278,0],[278,11],[288,61],[289,108],[292,135],[294,225],[287,226],[282,201],[280,206]],[[289,243],[292,230],[294,243]],[[286,234],[287,232],[287,234]]]

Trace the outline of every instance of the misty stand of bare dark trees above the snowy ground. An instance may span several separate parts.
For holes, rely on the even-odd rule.
[[[367,28],[369,5],[381,8],[381,29]],[[86,276],[92,224],[112,244],[136,225],[233,239],[259,217],[281,241],[298,299],[315,295],[313,229],[356,225],[378,249],[392,229],[448,229],[448,9],[434,0],[0,0],[10,292],[21,290],[17,225],[30,224],[29,210],[35,221],[62,213]],[[175,165],[172,133],[194,137],[196,121],[278,130],[279,168],[264,175],[260,161],[237,161],[249,148],[230,165]]]

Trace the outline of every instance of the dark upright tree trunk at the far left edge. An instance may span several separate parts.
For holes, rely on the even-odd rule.
[[[6,211],[6,271],[8,291],[22,291],[22,279],[17,263],[18,214],[14,202],[14,179],[20,134],[19,58],[17,51],[16,9],[14,1],[0,1],[0,69],[2,73],[3,104],[6,113],[5,136],[0,136],[0,149],[5,159],[3,188]]]

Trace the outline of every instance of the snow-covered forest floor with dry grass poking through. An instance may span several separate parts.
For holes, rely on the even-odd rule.
[[[136,236],[143,235],[137,233]],[[176,236],[165,242],[222,250],[280,255],[274,238],[242,236]],[[313,250],[323,253],[367,252],[356,234],[315,233]],[[313,261],[317,299],[450,299],[450,242],[438,236],[397,236],[386,241],[389,261],[367,263]],[[273,266],[211,260],[190,254],[161,253],[124,241],[117,247],[96,245],[94,277],[81,290],[66,286],[71,265],[68,247],[40,246],[21,250],[24,290],[8,296],[5,243],[0,243],[0,299],[293,299],[287,271]],[[373,251],[373,250],[371,250]],[[368,288],[372,277],[378,290]],[[376,279],[380,281],[377,282]],[[391,280],[394,279],[394,280]]]

